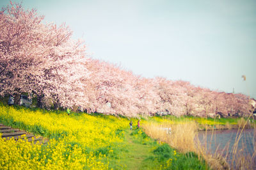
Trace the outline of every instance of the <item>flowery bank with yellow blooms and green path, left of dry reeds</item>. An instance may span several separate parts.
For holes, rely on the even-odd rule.
[[[6,169],[208,169],[195,153],[182,153],[136,128],[138,119],[52,112],[0,105],[0,122],[49,139],[47,144],[0,138]]]

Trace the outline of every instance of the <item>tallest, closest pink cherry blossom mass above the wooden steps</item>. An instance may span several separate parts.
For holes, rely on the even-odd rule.
[[[42,24],[44,17],[21,4],[11,2],[0,15],[1,95],[33,91],[38,106],[44,95],[61,105],[77,102],[81,79],[88,76],[83,43],[70,39],[65,24]]]

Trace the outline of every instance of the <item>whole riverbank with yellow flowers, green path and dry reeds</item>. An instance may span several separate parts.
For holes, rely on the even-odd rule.
[[[128,129],[131,120],[134,123],[132,132]],[[207,155],[207,148],[198,148],[199,146],[195,143],[196,132],[202,127],[210,130],[218,125],[221,128],[226,124],[246,125],[241,123],[244,122],[241,118],[214,120],[212,118],[154,116],[141,117],[140,120],[143,129],[136,129],[138,118],[75,112],[68,116],[63,111],[54,112],[6,105],[1,105],[0,109],[0,122],[4,125],[21,128],[32,134],[49,138],[49,144],[40,146],[40,150],[30,147],[25,151],[29,155],[34,155],[35,160],[31,166],[36,167],[40,163],[42,167],[59,167],[60,169],[72,166],[90,169],[134,169],[135,167],[138,169],[143,169],[143,167],[147,167],[145,169],[156,169],[156,167],[189,169],[189,166],[195,169],[208,169],[209,167],[221,169],[228,167],[227,162],[225,163],[225,160],[218,155]],[[166,127],[171,128],[171,134],[163,130]],[[216,128],[212,129],[216,130]],[[16,147],[20,150],[20,148],[28,148],[26,145],[31,145],[18,146],[13,142],[1,142],[3,146],[11,144],[10,147],[3,149],[5,153],[8,153],[11,148]],[[18,150],[17,153],[19,153]],[[58,153],[60,157],[52,155],[53,153]],[[4,157],[0,159],[4,161],[6,167],[12,167],[13,161],[30,161],[30,158],[24,159],[24,155],[19,154],[8,155],[8,157],[12,159],[8,161],[4,160]],[[52,163],[56,158],[60,159],[61,166]],[[81,162],[77,162],[76,158]],[[92,166],[88,166],[89,163]]]

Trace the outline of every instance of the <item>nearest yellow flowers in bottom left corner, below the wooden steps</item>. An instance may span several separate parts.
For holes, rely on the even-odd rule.
[[[1,169],[108,169],[108,165],[100,162],[100,157],[95,157],[92,152],[85,154],[77,146],[71,150],[62,141],[54,139],[48,146],[42,146],[1,138],[0,155]]]

